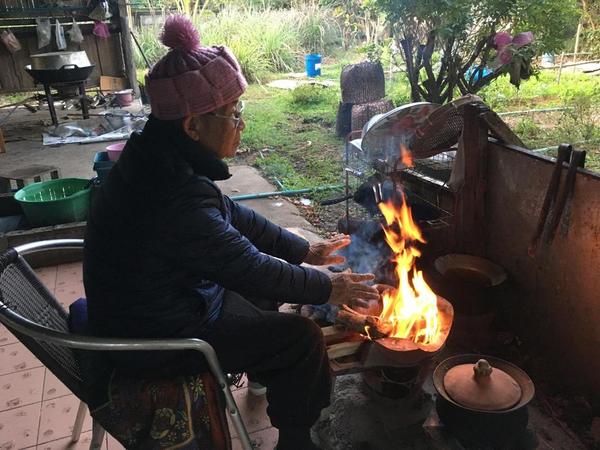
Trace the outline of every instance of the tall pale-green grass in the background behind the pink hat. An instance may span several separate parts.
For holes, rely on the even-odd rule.
[[[244,75],[260,81],[266,72],[302,67],[305,53],[326,53],[340,43],[341,30],[331,10],[317,6],[258,10],[226,7],[196,20],[202,45],[226,45],[238,58]],[[158,41],[159,27],[137,30],[144,54],[154,64],[167,49]],[[145,62],[136,49],[136,64]]]

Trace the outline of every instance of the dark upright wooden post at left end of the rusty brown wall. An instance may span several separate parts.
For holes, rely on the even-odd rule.
[[[475,256],[485,252],[485,191],[488,128],[480,118],[485,109],[465,106],[463,152],[464,184],[456,195],[455,225],[458,251]]]

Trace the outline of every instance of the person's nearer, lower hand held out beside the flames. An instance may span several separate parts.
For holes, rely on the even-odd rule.
[[[334,273],[328,303],[367,308],[370,300],[379,300],[377,289],[364,283],[373,279],[375,275],[371,273]]]

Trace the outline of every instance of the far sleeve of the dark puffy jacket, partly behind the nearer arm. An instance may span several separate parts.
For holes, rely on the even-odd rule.
[[[270,220],[224,196],[231,222],[261,252],[292,264],[300,264],[308,253],[306,239],[275,225]]]

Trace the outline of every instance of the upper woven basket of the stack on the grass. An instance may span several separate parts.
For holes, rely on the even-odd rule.
[[[385,97],[381,63],[361,62],[344,67],[340,76],[342,102],[369,103]]]

